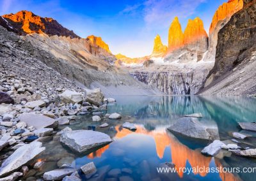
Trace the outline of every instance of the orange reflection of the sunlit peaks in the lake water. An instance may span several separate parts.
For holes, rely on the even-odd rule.
[[[160,131],[147,131],[144,127],[136,126],[137,130],[132,132],[129,129],[120,129],[120,126],[116,126],[116,135],[115,138],[124,138],[125,136],[133,133],[133,134],[144,134],[148,136],[152,136],[156,143],[156,154],[159,159],[162,159],[164,156],[164,150],[167,147],[171,148],[172,154],[172,163],[175,164],[177,168],[177,174],[180,178],[183,177],[184,173],[179,172],[179,168],[185,168],[186,163],[191,165],[193,168],[207,168],[212,160],[212,157],[205,157],[201,154],[200,150],[192,150],[186,145],[175,138],[171,133],[166,133],[165,129]],[[101,157],[101,155],[108,150],[109,145],[100,148],[99,150],[88,155],[89,158],[93,159],[94,157]],[[220,167],[221,163],[215,160],[216,166]],[[205,177],[207,173],[195,173],[199,174],[201,177]],[[220,173],[220,177],[222,180],[236,180],[236,177],[231,173]]]

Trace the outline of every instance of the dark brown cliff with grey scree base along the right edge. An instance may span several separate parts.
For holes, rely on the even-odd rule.
[[[202,94],[255,94],[256,1],[244,0],[220,30],[216,62],[207,76]]]

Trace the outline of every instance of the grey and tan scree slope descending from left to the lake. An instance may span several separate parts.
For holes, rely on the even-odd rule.
[[[4,21],[4,24],[11,23]],[[67,81],[73,82],[72,85],[100,87],[105,94],[159,94],[159,91],[134,80],[125,71],[113,67],[109,62],[115,56],[93,45],[90,40],[49,36],[42,32],[17,36],[3,27],[0,31],[1,46],[5,47],[1,48],[1,71],[31,78],[38,87],[45,83],[47,86],[64,86],[61,82],[67,78]],[[22,27],[19,31],[23,31]]]

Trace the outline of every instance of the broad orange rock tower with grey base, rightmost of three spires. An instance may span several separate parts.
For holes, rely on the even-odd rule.
[[[200,50],[206,51],[207,42],[208,35],[204,29],[203,21],[198,17],[194,20],[188,20],[188,25],[184,31],[184,46],[198,47]]]

